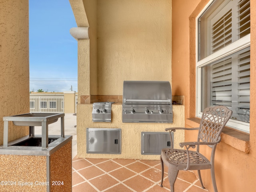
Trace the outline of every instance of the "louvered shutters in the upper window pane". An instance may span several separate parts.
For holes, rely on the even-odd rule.
[[[211,54],[250,34],[250,0],[231,0],[210,20]]]

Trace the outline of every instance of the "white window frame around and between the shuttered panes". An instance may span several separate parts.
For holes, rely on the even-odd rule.
[[[238,39],[234,43],[198,61],[199,60],[198,58],[198,48],[199,48],[198,47],[198,19],[213,1],[214,0],[210,0],[208,4],[206,4],[204,9],[200,12],[200,14],[198,14],[198,16],[196,17],[196,117],[200,117],[200,118],[202,117],[202,112],[200,112],[201,93],[202,93],[201,92],[202,67],[250,46],[250,34],[248,34]],[[250,123],[230,119],[226,125],[234,129],[238,129],[240,131],[250,133]]]

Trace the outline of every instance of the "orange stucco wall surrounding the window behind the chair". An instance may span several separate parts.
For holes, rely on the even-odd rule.
[[[195,117],[196,63],[195,26],[196,16],[209,0],[172,0],[172,91],[185,97],[185,119]],[[251,80],[250,80],[250,152],[248,154],[225,143],[217,146],[215,175],[219,192],[253,192],[256,188],[256,2],[251,1]],[[195,127],[188,125],[186,127]],[[196,124],[196,123],[195,123]],[[191,125],[191,126],[190,126]],[[196,138],[197,132],[185,132],[185,141]],[[208,156],[210,151],[204,148]],[[214,191],[210,170],[202,171],[204,185]]]

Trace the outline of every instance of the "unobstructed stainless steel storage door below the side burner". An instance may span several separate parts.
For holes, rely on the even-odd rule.
[[[121,129],[87,128],[86,153],[121,154]]]

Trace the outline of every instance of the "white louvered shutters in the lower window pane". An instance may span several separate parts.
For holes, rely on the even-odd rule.
[[[224,105],[232,119],[250,120],[250,47],[211,64],[211,106]]]

